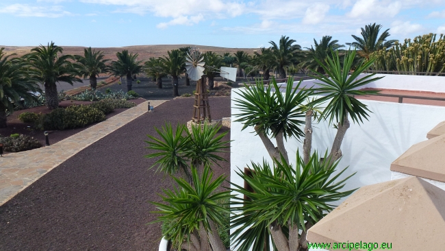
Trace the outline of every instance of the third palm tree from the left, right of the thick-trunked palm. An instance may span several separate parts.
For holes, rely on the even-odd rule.
[[[77,70],[80,75],[83,75],[84,80],[88,77],[90,79],[90,87],[95,90],[97,87],[97,77],[100,73],[107,72],[106,62],[110,61],[103,59],[103,51],[92,50],[91,47],[84,49],[84,56],[75,56],[77,60]]]

